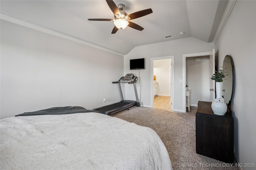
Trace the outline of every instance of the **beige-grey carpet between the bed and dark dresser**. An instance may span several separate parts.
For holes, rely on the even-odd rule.
[[[137,125],[150,127],[168,150],[174,170],[239,170],[225,162],[196,153],[196,107],[189,113],[135,107],[112,115]]]

